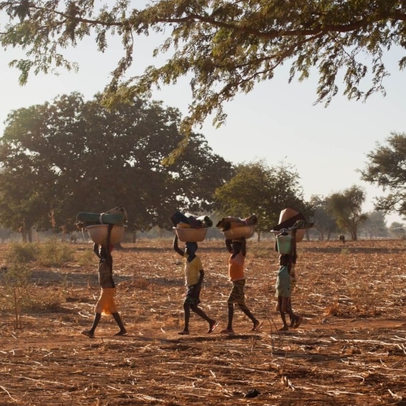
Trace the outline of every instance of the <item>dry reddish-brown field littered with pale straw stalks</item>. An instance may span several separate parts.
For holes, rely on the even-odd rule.
[[[113,336],[117,326],[103,316],[95,339],[81,331],[99,293],[97,258],[82,265],[91,246],[74,247],[78,260],[35,267],[20,293],[53,307],[22,312],[15,328],[13,307],[2,302],[0,405],[406,405],[405,242],[300,242],[292,303],[304,321],[281,332],[278,255],[273,242],[249,240],[247,304],[264,324],[251,332],[236,310],[233,335],[219,334],[228,253],[221,241],[202,242],[201,307],[220,325],[207,334],[192,315],[188,336],[177,334],[185,289],[172,242],[123,244],[113,257],[128,335]],[[7,246],[0,250],[5,297]]]

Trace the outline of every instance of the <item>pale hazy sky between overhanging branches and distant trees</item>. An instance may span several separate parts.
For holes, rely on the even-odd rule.
[[[134,66],[129,75],[142,73],[145,66],[157,63],[152,58],[156,38],[136,39]],[[121,56],[116,41],[105,54],[97,52],[87,39],[76,49],[66,51],[69,59],[80,65],[78,73],[60,71],[59,76],[31,76],[27,85],[18,85],[18,72],[8,67],[17,51],[0,50],[2,97],[0,98],[0,134],[4,120],[14,109],[52,101],[59,94],[80,91],[90,99],[103,90],[109,74]],[[399,72],[397,61],[404,56],[400,49],[391,51],[385,60],[391,76],[384,85],[387,95],[372,95],[366,103],[349,101],[342,95],[344,85],[331,104],[313,106],[316,100],[317,76],[288,84],[290,65],[277,71],[274,79],[260,83],[249,94],[240,94],[225,105],[227,122],[220,129],[207,120],[201,129],[214,152],[234,163],[264,159],[269,165],[282,161],[295,167],[300,175],[304,197],[313,194],[328,195],[359,185],[366,189],[364,211],[373,210],[375,196],[383,194],[379,188],[361,182],[357,169],[363,168],[369,151],[377,142],[383,142],[391,131],[406,131],[406,81]],[[164,59],[164,57],[163,57]],[[161,59],[162,60],[162,59]],[[369,83],[368,83],[369,85]],[[366,87],[366,84],[365,84]],[[178,81],[156,91],[153,98],[164,105],[177,107],[186,115],[190,102],[188,80]],[[396,215],[387,217],[387,223],[401,221]]]

